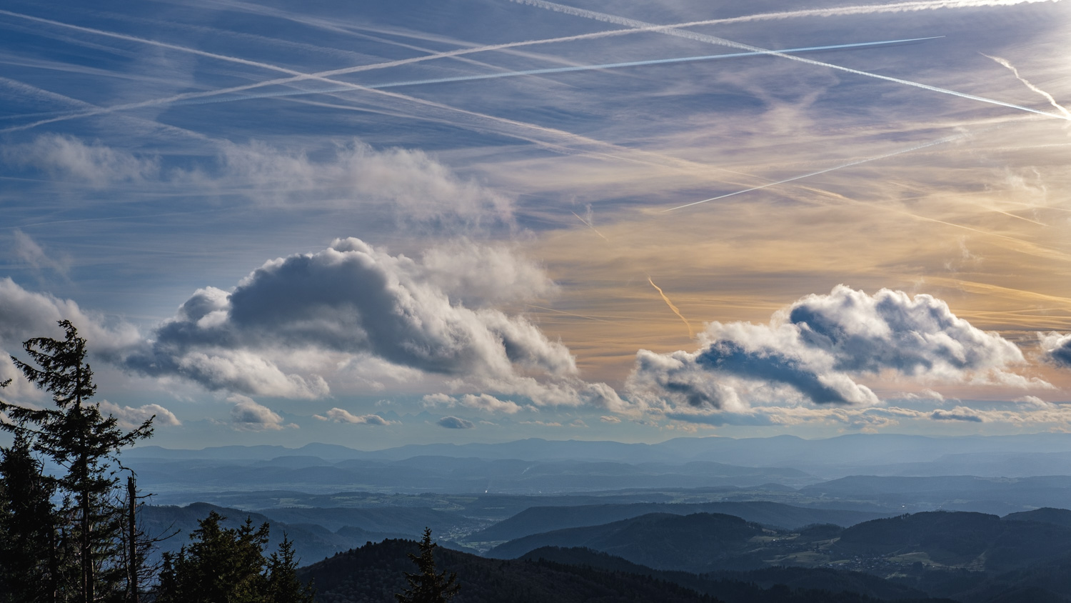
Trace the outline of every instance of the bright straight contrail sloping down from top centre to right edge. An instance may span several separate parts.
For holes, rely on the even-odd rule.
[[[630,18],[627,18],[627,17],[619,17],[619,16],[615,16],[615,15],[608,15],[606,13],[599,13],[599,12],[595,12],[595,11],[588,11],[588,10],[585,10],[585,9],[576,9],[576,7],[573,7],[573,6],[567,6],[564,4],[557,4],[555,2],[547,2],[546,0],[511,0],[511,1],[512,2],[516,2],[518,4],[531,4],[532,6],[539,6],[541,9],[546,9],[548,11],[555,11],[555,12],[558,12],[558,13],[564,13],[564,14],[574,15],[574,16],[577,16],[577,17],[584,17],[584,18],[588,18],[588,19],[595,19],[595,20],[600,20],[600,21],[612,22],[612,24],[615,24],[615,25],[621,25],[621,26],[636,28],[636,29],[638,29],[638,28],[658,27],[658,26],[654,26],[653,24],[649,24],[649,22],[646,22],[646,21],[640,21],[640,20],[636,20],[636,19],[630,19]],[[1009,1],[1014,1],[1014,0],[1009,0]],[[833,70],[843,71],[843,72],[846,72],[846,73],[861,75],[861,76],[864,76],[864,77],[873,77],[875,79],[883,79],[885,81],[892,81],[892,82],[895,82],[895,84],[903,84],[905,86],[911,86],[914,88],[921,88],[923,90],[930,90],[930,91],[933,91],[933,92],[940,92],[941,94],[951,94],[952,96],[959,96],[961,99],[968,99],[968,100],[971,100],[971,101],[979,101],[981,103],[989,103],[991,105],[998,105],[998,106],[1001,106],[1001,107],[1009,107],[1009,108],[1012,108],[1012,109],[1019,109],[1021,111],[1028,111],[1028,112],[1031,112],[1031,114],[1038,114],[1038,115],[1043,115],[1043,116],[1046,116],[1046,117],[1052,117],[1052,118],[1056,118],[1056,119],[1062,119],[1062,120],[1069,120],[1069,121],[1071,121],[1071,117],[1066,117],[1066,116],[1062,116],[1062,115],[1055,115],[1055,114],[1050,114],[1050,112],[1045,112],[1045,111],[1040,111],[1038,109],[1032,109],[1030,107],[1024,107],[1022,105],[1015,105],[1015,104],[1012,104],[1012,103],[1005,103],[1004,101],[997,101],[997,100],[994,100],[994,99],[986,99],[984,96],[976,96],[975,94],[967,94],[967,93],[964,93],[964,92],[956,92],[955,90],[948,90],[947,88],[938,88],[936,86],[930,86],[929,84],[920,84],[918,81],[911,81],[911,80],[908,80],[908,79],[901,79],[899,77],[891,77],[891,76],[888,76],[888,75],[879,75],[879,74],[876,74],[876,73],[870,73],[870,72],[865,72],[865,71],[854,70],[851,67],[845,67],[845,66],[841,66],[841,65],[834,65],[834,64],[831,64],[831,63],[824,63],[821,61],[815,61],[813,59],[806,59],[806,58],[803,58],[803,57],[797,57],[797,56],[794,56],[794,55],[787,55],[785,52],[779,52],[776,50],[768,50],[766,48],[759,48],[758,46],[751,46],[749,44],[741,44],[739,42],[733,42],[731,40],[725,40],[724,37],[718,37],[718,36],[714,36],[714,35],[707,35],[705,33],[696,33],[696,32],[693,32],[693,31],[681,31],[679,29],[673,29],[673,28],[665,28],[665,29],[661,29],[661,30],[657,30],[657,31],[660,31],[661,33],[665,33],[665,34],[668,34],[668,35],[675,35],[675,36],[678,36],[678,37],[684,37],[684,39],[688,39],[688,40],[694,40],[696,42],[706,42],[708,44],[718,44],[719,46],[728,46],[730,48],[740,48],[741,50],[752,50],[752,51],[755,51],[755,52],[761,52],[761,54],[766,54],[766,55],[772,55],[774,57],[782,57],[782,58],[785,58],[785,59],[789,59],[789,60],[793,60],[793,61],[799,61],[799,62],[811,64],[811,65],[833,69]]]

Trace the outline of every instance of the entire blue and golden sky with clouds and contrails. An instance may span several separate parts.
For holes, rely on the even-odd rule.
[[[72,320],[172,448],[1068,431],[1069,30],[9,0],[0,358]]]

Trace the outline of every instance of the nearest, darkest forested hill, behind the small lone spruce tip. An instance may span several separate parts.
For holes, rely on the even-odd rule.
[[[394,600],[414,571],[407,554],[418,545],[407,540],[387,540],[341,553],[299,570],[303,581],[312,579],[317,601],[322,603],[383,603]],[[764,588],[739,579],[706,579],[703,593],[685,588],[673,572],[647,575],[586,564],[547,560],[497,560],[466,553],[436,549],[438,568],[456,572],[462,586],[454,603],[951,603],[937,599],[875,599],[856,592],[774,585]],[[678,577],[697,578],[679,573]],[[724,597],[723,597],[724,594]]]

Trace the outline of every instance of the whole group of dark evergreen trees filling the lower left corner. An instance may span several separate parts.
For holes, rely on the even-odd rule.
[[[86,340],[70,321],[59,325],[63,340],[27,340],[28,362],[12,357],[52,406],[0,400],[0,428],[13,435],[0,448],[0,603],[311,603],[291,543],[265,556],[267,524],[224,529],[212,513],[188,546],[147,562],[168,534],[138,529],[144,497],[119,452],[151,437],[153,418],[125,431],[102,414],[90,402]]]

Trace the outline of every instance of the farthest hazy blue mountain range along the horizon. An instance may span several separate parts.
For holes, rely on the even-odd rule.
[[[310,443],[298,449],[281,446],[225,446],[202,450],[170,450],[142,446],[123,453],[124,458],[269,461],[281,456],[312,456],[328,461],[403,461],[414,456],[451,456],[522,461],[610,461],[616,463],[670,463],[708,461],[746,467],[794,467],[814,472],[818,467],[842,471],[842,476],[871,474],[980,474],[977,468],[1001,466],[1006,477],[1067,474],[1071,465],[1071,434],[1042,433],[1014,436],[930,437],[899,434],[850,434],[827,439],[796,436],[769,438],[690,437],[661,443],[558,440],[529,438],[503,443],[407,444],[377,451],[360,451],[337,444]],[[1006,464],[1007,459],[1014,464]],[[1024,466],[1026,462],[1028,466]],[[1035,471],[1031,464],[1050,466]],[[927,472],[935,466],[950,470]],[[870,471],[849,468],[871,468]],[[919,472],[921,471],[921,472]],[[1010,471],[1010,472],[1009,472]],[[1026,472],[1022,472],[1026,471]],[[1014,473],[1014,474],[1012,474]],[[825,474],[824,477],[832,477]],[[838,477],[842,477],[838,476]]]

